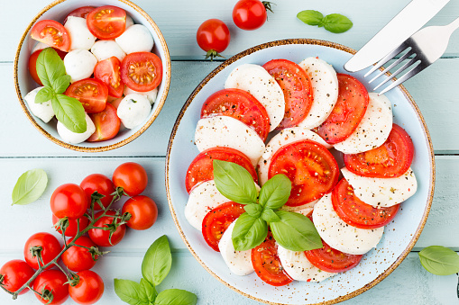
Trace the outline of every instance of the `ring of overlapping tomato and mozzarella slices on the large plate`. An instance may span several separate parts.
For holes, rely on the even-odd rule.
[[[392,122],[389,99],[317,57],[234,68],[225,89],[203,104],[195,143],[200,153],[186,175],[186,219],[231,273],[255,272],[275,286],[320,282],[358,265],[399,203],[417,191],[414,146]],[[344,154],[343,168],[332,149]],[[293,251],[269,232],[261,245],[236,251],[232,232],[244,205],[216,188],[214,159],[243,166],[257,186],[287,175],[291,191],[281,210],[313,221],[323,247]]]

